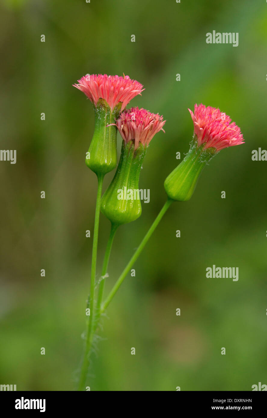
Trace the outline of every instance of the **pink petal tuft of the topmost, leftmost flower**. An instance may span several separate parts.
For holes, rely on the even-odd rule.
[[[94,106],[100,98],[106,100],[112,111],[119,102],[122,102],[121,110],[123,110],[130,100],[144,90],[141,83],[131,80],[124,74],[123,77],[86,74],[78,80],[78,84],[73,84],[73,86],[86,94]]]

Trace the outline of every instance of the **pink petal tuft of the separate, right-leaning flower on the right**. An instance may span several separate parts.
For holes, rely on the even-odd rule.
[[[188,110],[194,122],[198,146],[205,144],[204,148],[216,148],[218,152],[223,148],[244,143],[240,128],[219,109],[195,104],[194,113]]]

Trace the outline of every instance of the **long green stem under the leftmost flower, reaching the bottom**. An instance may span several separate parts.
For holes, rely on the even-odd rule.
[[[90,296],[89,296],[89,308],[90,318],[88,321],[88,329],[86,334],[86,343],[84,349],[84,359],[81,366],[81,375],[79,380],[78,390],[85,390],[86,377],[89,366],[89,356],[92,349],[92,342],[94,336],[94,290],[95,290],[95,279],[96,279],[96,268],[97,268],[97,242],[98,242],[98,228],[99,228],[99,215],[100,215],[100,203],[103,185],[103,174],[99,174],[98,187],[97,187],[97,203],[94,217],[94,237],[93,237],[93,249],[92,249],[92,267],[91,267],[91,285],[90,285]]]

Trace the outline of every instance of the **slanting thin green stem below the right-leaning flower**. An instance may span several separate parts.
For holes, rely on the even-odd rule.
[[[137,248],[137,250],[135,251],[134,255],[132,256],[132,258],[130,259],[129,263],[127,264],[127,266],[125,267],[125,269],[123,270],[122,274],[120,275],[120,277],[118,278],[117,282],[115,283],[115,285],[113,286],[112,290],[110,291],[107,299],[105,300],[105,302],[102,305],[101,308],[101,313],[103,313],[105,311],[105,309],[107,308],[107,306],[109,305],[109,303],[111,302],[112,298],[114,297],[115,293],[117,292],[118,288],[120,287],[120,285],[122,284],[123,280],[125,279],[127,273],[130,271],[130,268],[132,267],[132,265],[135,263],[135,261],[137,260],[137,258],[139,257],[140,253],[142,252],[143,248],[145,247],[147,241],[149,240],[149,238],[151,237],[151,235],[153,234],[153,232],[155,231],[156,227],[158,226],[160,220],[162,219],[163,215],[165,214],[165,212],[167,211],[167,209],[170,207],[170,205],[172,204],[173,200],[172,199],[168,199],[166,201],[166,203],[164,204],[163,208],[161,209],[160,213],[158,214],[158,216],[156,217],[155,221],[153,222],[153,224],[151,225],[150,229],[148,229],[147,233],[145,234],[145,237],[143,238],[143,240],[141,241],[139,247]]]

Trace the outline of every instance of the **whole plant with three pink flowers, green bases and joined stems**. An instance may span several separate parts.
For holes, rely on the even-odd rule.
[[[147,146],[154,135],[163,130],[166,121],[158,113],[151,113],[143,108],[131,107],[125,110],[130,100],[143,91],[142,84],[131,80],[129,76],[87,74],[78,81],[78,84],[74,84],[74,87],[86,94],[94,104],[94,135],[89,151],[86,153],[86,164],[97,174],[98,178],[89,294],[91,311],[79,380],[79,390],[84,390],[94,333],[97,330],[101,314],[104,313],[132,268],[133,263],[137,260],[163,214],[173,201],[188,201],[191,198],[203,168],[213,158],[214,154],[223,148],[242,144],[244,141],[240,128],[219,109],[206,107],[203,104],[196,104],[194,113],[188,109],[194,124],[194,136],[189,151],[183,161],[165,179],[164,188],[168,199],[104,301],[104,283],[114,234],[120,225],[135,221],[142,213],[141,189],[139,189],[142,163],[147,152]],[[117,130],[119,130],[123,139],[118,165]],[[163,130],[163,132],[165,131]],[[116,166],[114,177],[102,196],[104,175]],[[104,256],[102,280],[99,281],[96,300],[100,210],[111,222],[111,232]]]

